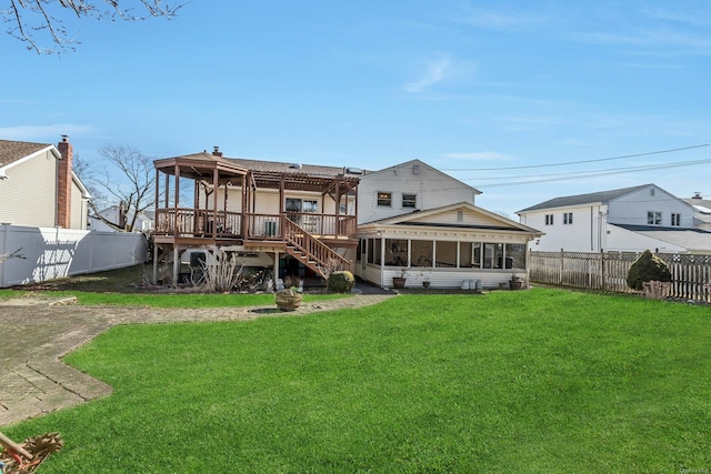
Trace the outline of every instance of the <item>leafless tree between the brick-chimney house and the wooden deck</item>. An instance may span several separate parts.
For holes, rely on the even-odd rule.
[[[122,212],[119,222],[110,222],[99,214],[97,202],[90,206],[96,216],[117,230],[132,232],[139,214],[156,204],[156,170],[152,158],[141,153],[133,147],[124,144],[104,145],[99,153],[120,173],[104,167],[101,174],[90,173],[89,181],[99,195],[106,195],[99,202],[118,202]],[[80,175],[81,178],[81,175]],[[124,219],[123,219],[124,218]]]

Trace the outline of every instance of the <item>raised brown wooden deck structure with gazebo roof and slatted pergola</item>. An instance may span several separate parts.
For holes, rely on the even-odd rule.
[[[299,248],[309,255],[307,262],[327,259],[329,244],[354,248],[358,244],[356,215],[358,213],[357,188],[359,179],[347,175],[313,175],[300,170],[278,172],[249,170],[216,153],[196,153],[184,157],[156,160],[156,229],[154,266],[157,256],[172,250],[173,281],[178,279],[180,254],[190,248],[242,245],[260,251],[289,252]],[[186,180],[192,181],[192,203],[181,204]],[[162,183],[162,185],[161,185]],[[229,210],[229,189],[240,189],[239,210]],[[254,212],[257,191],[279,190],[279,209],[273,213]],[[336,202],[333,214],[313,214],[319,231],[304,235],[284,210],[288,190],[319,192],[322,209],[327,196]],[[220,192],[221,191],[221,192]],[[220,195],[222,199],[220,199]],[[352,196],[356,215],[341,214],[343,196]],[[314,242],[316,241],[316,242]],[[338,254],[337,254],[338,255]],[[330,256],[332,258],[332,256]],[[347,266],[350,266],[351,262]],[[318,265],[317,265],[318,266]]]

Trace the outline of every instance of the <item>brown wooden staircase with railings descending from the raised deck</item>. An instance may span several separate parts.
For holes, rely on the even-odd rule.
[[[284,240],[287,253],[304,266],[326,278],[334,270],[351,270],[351,262],[343,259],[333,249],[307,232],[290,219],[284,219]]]

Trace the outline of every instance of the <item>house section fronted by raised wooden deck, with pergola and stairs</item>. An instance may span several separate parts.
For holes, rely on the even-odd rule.
[[[161,280],[177,282],[183,254],[216,249],[271,266],[277,278],[352,270],[360,171],[228,159],[217,148],[154,167],[156,280],[160,263],[172,270]],[[181,202],[188,183],[193,196]],[[210,264],[210,252],[204,258]]]

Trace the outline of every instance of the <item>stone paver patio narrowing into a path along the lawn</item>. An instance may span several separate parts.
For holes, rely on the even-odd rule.
[[[163,310],[79,306],[71,301],[46,299],[0,300],[0,426],[110,394],[109,385],[70,367],[61,357],[117,324],[298,316],[377,304],[393,295],[358,294],[304,303],[287,313],[274,312],[273,305]]]

